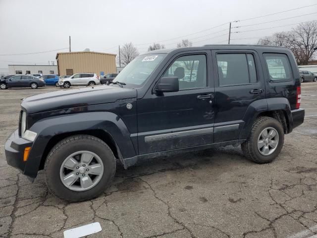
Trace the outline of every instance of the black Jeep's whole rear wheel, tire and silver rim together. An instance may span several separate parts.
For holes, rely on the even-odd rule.
[[[284,144],[284,130],[281,123],[269,117],[260,117],[253,123],[247,141],[242,143],[244,155],[259,164],[273,161]]]

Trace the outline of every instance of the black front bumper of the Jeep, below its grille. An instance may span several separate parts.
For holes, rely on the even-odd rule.
[[[32,147],[33,142],[19,136],[18,130],[14,131],[5,142],[4,151],[8,165],[17,168],[24,174],[26,162],[23,161],[25,147]]]

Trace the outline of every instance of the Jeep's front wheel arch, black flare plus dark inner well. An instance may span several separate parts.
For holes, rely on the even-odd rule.
[[[24,174],[32,178],[43,169],[46,157],[53,146],[71,135],[87,134],[105,141],[125,168],[123,158],[136,156],[136,149],[125,123],[116,114],[110,112],[78,113],[45,118],[35,122],[29,130],[38,134],[24,171]]]

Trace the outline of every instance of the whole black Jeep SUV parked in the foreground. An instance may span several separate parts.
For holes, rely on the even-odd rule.
[[[152,51],[109,86],[26,98],[19,128],[5,143],[7,163],[69,201],[110,185],[116,160],[240,145],[267,163],[284,134],[304,121],[300,75],[283,47],[207,45]]]

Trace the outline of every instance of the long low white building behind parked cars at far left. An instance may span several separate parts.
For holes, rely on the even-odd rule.
[[[9,64],[9,74],[57,74],[57,65]]]

